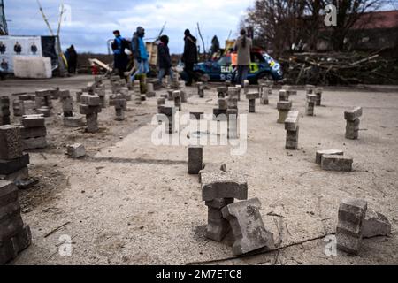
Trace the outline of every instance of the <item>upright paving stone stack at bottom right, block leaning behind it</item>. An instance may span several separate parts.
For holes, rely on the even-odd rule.
[[[341,202],[336,228],[337,249],[352,255],[359,253],[367,206],[361,199],[345,199]]]

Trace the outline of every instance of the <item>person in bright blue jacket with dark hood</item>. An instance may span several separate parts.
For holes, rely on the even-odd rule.
[[[136,74],[149,73],[149,54],[145,46],[145,42],[143,41],[144,36],[145,29],[143,27],[137,27],[132,40],[134,65],[137,69],[132,76],[133,81]]]

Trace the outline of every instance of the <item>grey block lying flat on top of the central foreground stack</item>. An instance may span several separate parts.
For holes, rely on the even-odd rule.
[[[230,172],[203,172],[201,178],[203,201],[216,198],[248,198],[248,182],[241,175]]]

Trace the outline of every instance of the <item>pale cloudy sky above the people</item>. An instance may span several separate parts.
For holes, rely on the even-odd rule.
[[[224,42],[231,30],[235,36],[241,17],[254,0],[41,0],[55,32],[61,2],[71,7],[72,19],[61,28],[64,49],[74,44],[78,52],[106,53],[113,30],[131,37],[141,25],[146,37],[154,38],[167,22],[164,34],[170,37],[172,52],[180,53],[184,30],[189,28],[196,35],[197,22],[205,43],[210,44],[215,34]],[[4,0],[4,10],[11,35],[49,34],[36,0]]]

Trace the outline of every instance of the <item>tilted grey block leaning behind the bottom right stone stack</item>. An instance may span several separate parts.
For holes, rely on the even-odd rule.
[[[366,210],[362,234],[364,238],[387,236],[391,233],[391,223],[386,216],[374,210]]]

